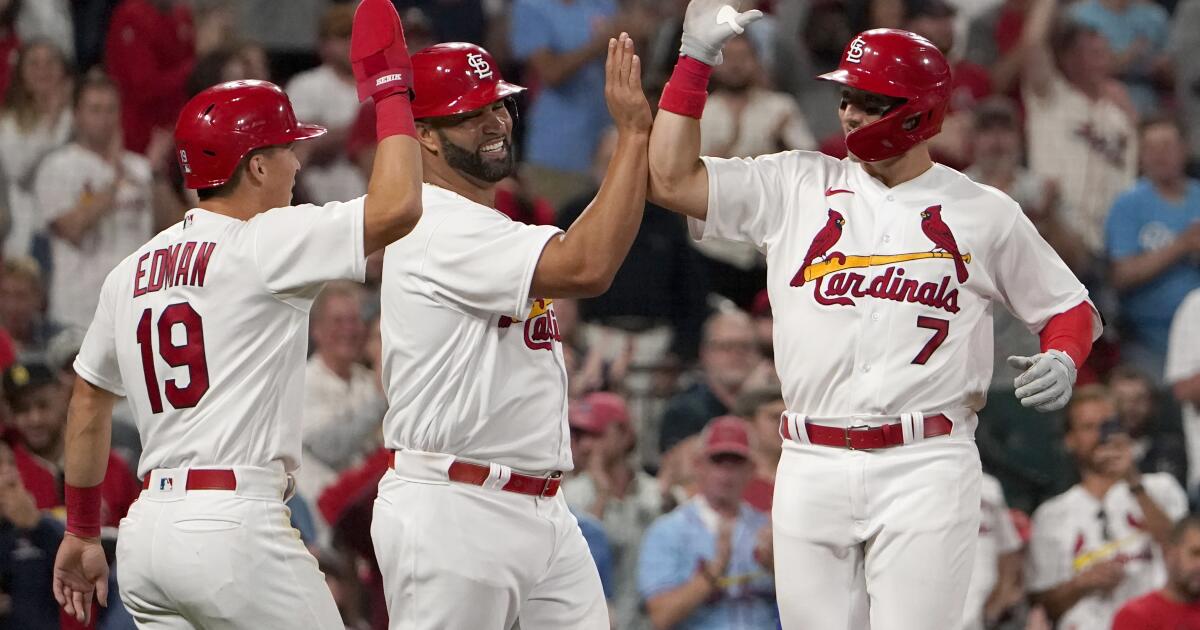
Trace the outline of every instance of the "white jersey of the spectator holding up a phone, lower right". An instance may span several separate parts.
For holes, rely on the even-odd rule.
[[[1142,475],[1142,485],[1172,521],[1188,512],[1188,498],[1166,473]],[[1033,538],[1026,556],[1031,593],[1044,593],[1066,583],[1097,562],[1118,559],[1124,581],[1109,596],[1088,595],[1063,613],[1060,630],[1109,628],[1121,605],[1163,586],[1163,553],[1144,528],[1138,499],[1126,482],[1097,499],[1082,486],[1045,502],[1033,512]]]

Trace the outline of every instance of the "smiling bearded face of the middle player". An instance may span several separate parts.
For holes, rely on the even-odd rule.
[[[467,178],[496,184],[516,170],[512,115],[505,101],[431,124],[446,164]]]

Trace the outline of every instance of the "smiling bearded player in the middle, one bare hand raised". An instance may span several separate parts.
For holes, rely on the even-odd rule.
[[[605,98],[619,139],[563,233],[492,208],[523,90],[478,46],[413,55],[425,215],[388,246],[383,380],[391,470],[371,536],[392,629],[607,630],[595,563],[559,492],[571,469],[554,298],[599,295],[646,204],[650,107],[622,34]]]

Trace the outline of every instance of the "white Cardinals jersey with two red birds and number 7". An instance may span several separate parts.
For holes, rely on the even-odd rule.
[[[792,413],[941,412],[970,434],[991,379],[994,304],[1037,332],[1087,300],[1012,199],[944,166],[888,188],[858,162],[808,151],[704,164],[708,216],[689,227],[766,253]]]

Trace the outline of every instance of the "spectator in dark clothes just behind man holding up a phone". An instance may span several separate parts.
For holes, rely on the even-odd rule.
[[[1134,466],[1142,473],[1170,473],[1187,487],[1187,449],[1178,433],[1163,426],[1154,384],[1136,368],[1120,365],[1109,374],[1109,390],[1133,440]]]

